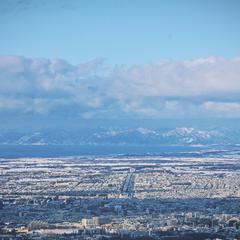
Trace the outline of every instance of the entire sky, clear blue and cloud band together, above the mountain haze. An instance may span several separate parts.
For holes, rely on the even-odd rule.
[[[2,0],[0,117],[239,118],[239,26],[238,0]]]

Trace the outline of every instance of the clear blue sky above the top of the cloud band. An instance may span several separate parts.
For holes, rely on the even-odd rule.
[[[238,0],[3,0],[0,53],[73,64],[240,55]]]

